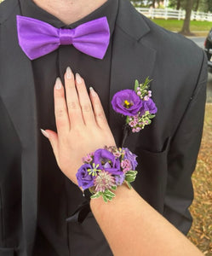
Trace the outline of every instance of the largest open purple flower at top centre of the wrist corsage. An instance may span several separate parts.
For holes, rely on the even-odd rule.
[[[121,171],[120,160],[106,149],[97,149],[94,155],[95,165],[99,165],[100,170],[105,170],[114,175],[123,173]]]

